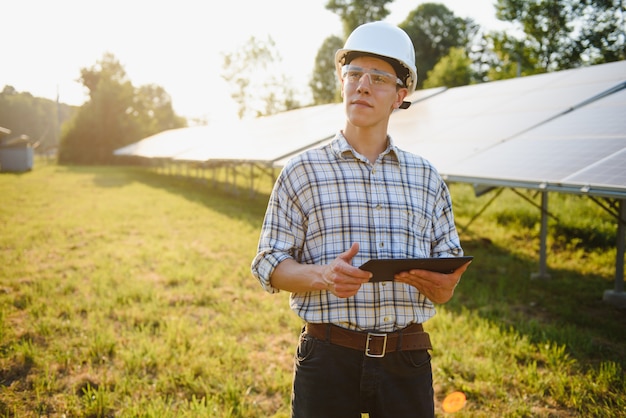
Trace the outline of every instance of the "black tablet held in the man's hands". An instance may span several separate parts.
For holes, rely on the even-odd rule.
[[[370,282],[383,282],[393,280],[394,274],[413,269],[452,273],[473,258],[474,257],[470,255],[440,258],[382,258],[379,260],[369,260],[359,268],[374,274]]]

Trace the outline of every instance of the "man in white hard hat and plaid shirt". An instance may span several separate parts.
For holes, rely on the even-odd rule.
[[[306,323],[292,416],[433,417],[431,348],[422,323],[467,268],[412,270],[370,282],[370,259],[463,254],[448,188],[421,157],[394,146],[391,113],[415,90],[407,34],[359,26],[335,57],[346,124],[327,146],[289,161],[276,181],[252,272],[291,292]]]

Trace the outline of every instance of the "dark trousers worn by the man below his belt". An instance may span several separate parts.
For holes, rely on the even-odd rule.
[[[427,350],[382,358],[302,333],[295,357],[293,418],[433,418],[434,392]]]

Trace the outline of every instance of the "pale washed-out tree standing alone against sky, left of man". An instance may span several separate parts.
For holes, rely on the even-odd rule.
[[[280,72],[282,58],[271,37],[250,37],[240,49],[224,54],[222,78],[232,88],[239,118],[271,115],[298,107],[293,89]]]

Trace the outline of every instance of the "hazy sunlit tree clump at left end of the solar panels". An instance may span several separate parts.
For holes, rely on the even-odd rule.
[[[89,90],[89,100],[63,127],[60,163],[112,163],[115,149],[165,129],[186,126],[185,119],[174,113],[163,88],[133,87],[112,54],[83,68],[80,80]]]

